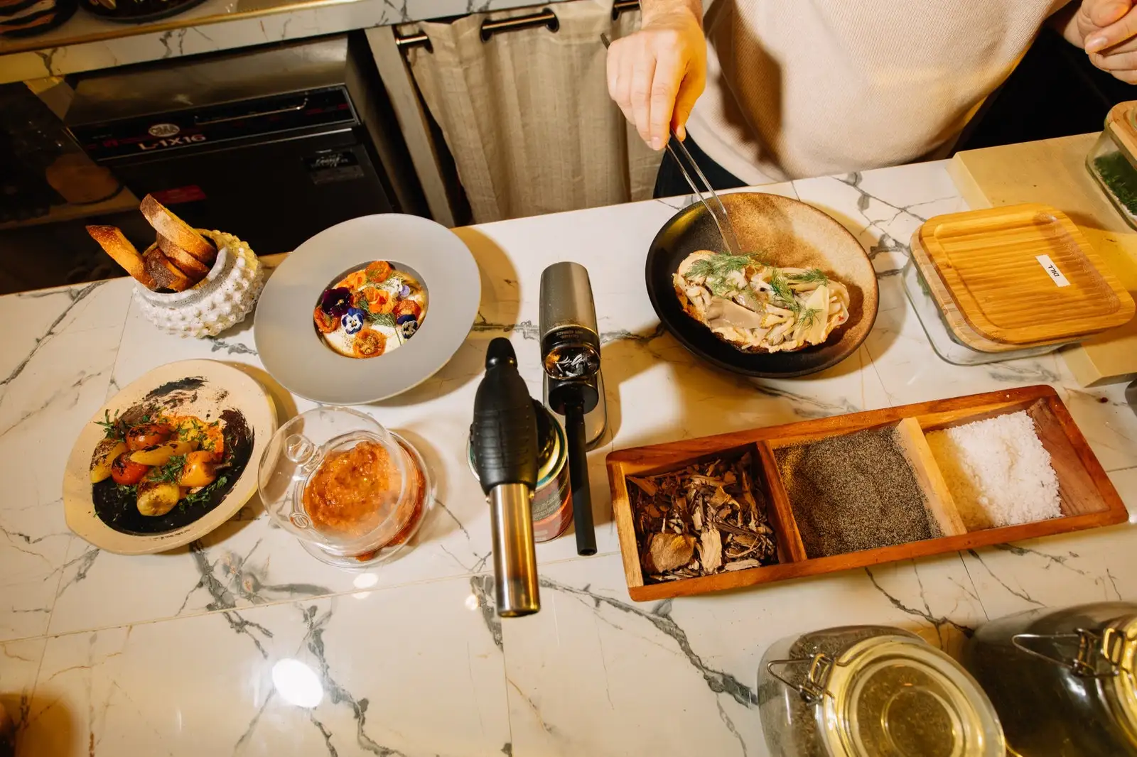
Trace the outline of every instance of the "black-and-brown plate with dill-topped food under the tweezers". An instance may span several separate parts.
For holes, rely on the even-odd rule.
[[[708,363],[757,377],[804,376],[856,351],[879,291],[861,243],[821,210],[779,194],[722,197],[746,248],[727,255],[702,203],[656,234],[645,276],[664,327]]]

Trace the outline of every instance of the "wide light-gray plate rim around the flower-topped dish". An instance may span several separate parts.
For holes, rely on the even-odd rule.
[[[422,282],[422,325],[398,349],[343,357],[321,339],[313,310],[325,289],[373,260]],[[319,232],[277,266],[257,302],[254,336],[265,368],[289,391],[316,402],[374,402],[446,365],[470,333],[480,300],[478,264],[448,228],[417,216],[362,216]]]

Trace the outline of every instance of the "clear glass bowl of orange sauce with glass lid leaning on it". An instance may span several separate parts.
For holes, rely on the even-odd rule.
[[[257,473],[269,515],[310,555],[342,567],[393,557],[434,501],[418,450],[346,407],[318,407],[285,423]]]

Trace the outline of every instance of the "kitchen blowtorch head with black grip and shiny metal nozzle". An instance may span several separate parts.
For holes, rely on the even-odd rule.
[[[530,509],[538,480],[537,414],[508,339],[495,339],[485,352],[470,439],[490,504],[498,615],[530,615],[541,609]]]

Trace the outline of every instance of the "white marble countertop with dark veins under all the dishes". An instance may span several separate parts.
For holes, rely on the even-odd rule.
[[[256,371],[251,324],[211,341],[165,336],[126,280],[0,298],[0,701],[20,723],[18,754],[756,757],[766,749],[750,694],[780,637],[872,622],[956,650],[990,617],[1137,599],[1130,524],[629,599],[604,473],[613,448],[1047,383],[1137,511],[1137,416],[1122,386],[1082,390],[1053,355],[956,367],[932,353],[893,274],[922,219],[961,209],[943,164],[764,189],[823,208],[871,251],[881,308],[855,356],[761,383],[696,363],[662,332],[644,286],[648,242],[678,200],[464,230],[482,269],[479,324],[434,378],[366,408],[420,444],[441,507],[413,551],[364,573],[309,557],[256,500],[172,554],[121,557],[73,536],[60,479],[80,427],[164,363]],[[501,622],[487,597],[488,508],[464,461],[466,429],[490,338],[511,335],[539,391],[539,273],[566,259],[591,272],[616,431],[590,456],[599,554],[578,558],[571,536],[540,544],[542,610]],[[297,687],[318,705],[290,704]]]

